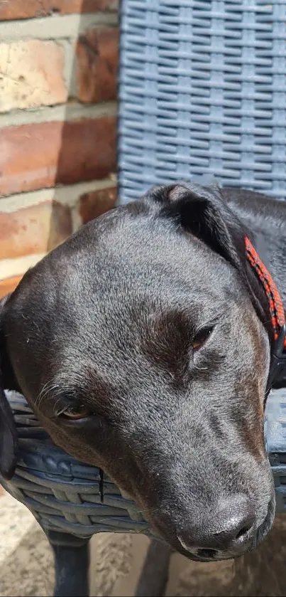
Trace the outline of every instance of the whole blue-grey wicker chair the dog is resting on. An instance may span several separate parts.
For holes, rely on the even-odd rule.
[[[121,1],[121,203],[204,174],[286,199],[285,23],[286,0]],[[87,596],[92,534],[150,530],[103,472],[53,445],[23,397],[9,399],[21,450],[4,485],[53,546],[55,596]],[[286,391],[270,394],[277,512],[286,507],[285,407]]]

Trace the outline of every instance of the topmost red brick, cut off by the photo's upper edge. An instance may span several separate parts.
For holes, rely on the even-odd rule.
[[[33,16],[114,11],[116,0],[0,0],[0,20]]]

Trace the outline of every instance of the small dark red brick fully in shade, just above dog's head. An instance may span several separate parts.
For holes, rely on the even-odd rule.
[[[114,207],[116,202],[116,187],[91,191],[79,197],[79,215],[82,223],[101,216],[101,213]]]

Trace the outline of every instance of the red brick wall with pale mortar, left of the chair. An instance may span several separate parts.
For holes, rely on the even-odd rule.
[[[0,0],[0,297],[116,200],[116,0]]]

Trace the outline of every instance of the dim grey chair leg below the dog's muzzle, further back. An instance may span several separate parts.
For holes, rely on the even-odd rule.
[[[141,571],[136,597],[162,597],[165,595],[172,549],[161,541],[150,543]]]

